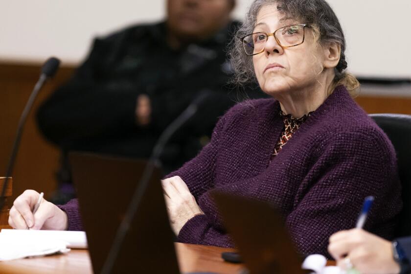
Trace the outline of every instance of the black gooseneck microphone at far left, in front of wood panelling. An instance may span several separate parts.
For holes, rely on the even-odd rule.
[[[11,156],[10,156],[10,159],[7,165],[7,170],[6,170],[6,175],[5,175],[6,178],[4,179],[4,185],[3,185],[3,188],[0,194],[0,210],[4,206],[4,201],[5,201],[4,194],[7,189],[8,178],[11,176],[13,172],[13,167],[16,161],[17,152],[19,151],[20,140],[23,134],[23,127],[27,119],[27,116],[31,108],[33,107],[34,100],[36,99],[37,94],[39,93],[43,85],[46,83],[46,80],[53,77],[56,74],[57,69],[59,68],[59,65],[60,65],[59,59],[55,57],[50,57],[49,59],[47,59],[47,61],[44,63],[41,69],[40,78],[37,81],[36,85],[34,86],[33,91],[31,91],[30,97],[28,98],[27,103],[24,106],[23,113],[20,116],[19,125],[17,126],[17,132],[16,132],[16,137],[14,138],[13,148],[11,150]]]

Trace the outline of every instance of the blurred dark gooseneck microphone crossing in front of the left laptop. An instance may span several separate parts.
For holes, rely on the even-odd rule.
[[[181,113],[171,124],[169,124],[160,135],[147,162],[147,165],[144,168],[140,181],[137,184],[131,202],[127,207],[126,214],[121,221],[120,226],[117,228],[113,244],[100,272],[101,274],[110,274],[112,272],[114,262],[117,258],[118,252],[120,251],[121,245],[124,242],[124,238],[131,227],[131,222],[136,215],[137,208],[145,193],[154,167],[160,162],[160,154],[164,149],[164,145],[177,130],[179,130],[194,114],[197,113],[199,106],[201,106],[201,103],[209,95],[210,94],[207,91],[200,92],[200,94],[191,101],[190,105],[183,111],[183,113]]]

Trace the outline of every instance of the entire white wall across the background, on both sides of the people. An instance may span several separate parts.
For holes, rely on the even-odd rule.
[[[77,64],[91,38],[157,21],[164,0],[0,0],[0,61]],[[242,18],[251,0],[237,0]],[[329,0],[346,33],[349,69],[360,76],[411,77],[411,0]]]

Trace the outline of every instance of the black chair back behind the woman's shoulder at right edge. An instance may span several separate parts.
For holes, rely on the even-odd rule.
[[[395,237],[411,235],[411,115],[370,114],[388,135],[397,153],[403,209]]]

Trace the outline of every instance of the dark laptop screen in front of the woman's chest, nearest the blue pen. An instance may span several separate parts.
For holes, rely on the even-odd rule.
[[[307,273],[274,206],[217,191],[212,197],[250,274]]]

